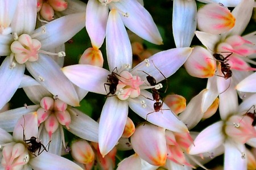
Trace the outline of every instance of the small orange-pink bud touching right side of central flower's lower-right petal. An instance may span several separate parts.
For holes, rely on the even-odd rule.
[[[175,113],[179,114],[186,108],[186,99],[180,95],[167,95],[164,98],[164,103]]]

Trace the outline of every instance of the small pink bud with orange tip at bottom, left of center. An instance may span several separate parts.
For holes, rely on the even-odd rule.
[[[89,164],[94,160],[94,152],[90,144],[85,140],[72,142],[72,157],[81,164]]]

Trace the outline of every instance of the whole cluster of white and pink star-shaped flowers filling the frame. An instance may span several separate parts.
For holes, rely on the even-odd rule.
[[[154,53],[127,33],[163,44],[143,1],[0,0],[0,169],[207,169],[222,154],[224,169],[256,169],[256,32],[241,36],[255,2],[200,1],[174,0],[176,48]],[[92,48],[63,67],[64,43],[84,27]],[[187,106],[160,95],[183,65],[208,78]],[[35,105],[9,109],[18,88]],[[105,98],[98,121],[76,108],[88,92]],[[189,131],[217,108],[220,120]],[[134,154],[116,166],[117,150]]]

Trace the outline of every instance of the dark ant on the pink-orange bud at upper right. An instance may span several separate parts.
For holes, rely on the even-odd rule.
[[[224,57],[222,56],[222,54],[220,53],[214,53],[213,54],[213,57],[218,61],[220,62],[221,64],[221,73],[224,75],[217,75],[217,76],[221,76],[223,77],[224,79],[228,79],[228,78],[231,78],[232,76],[232,70],[230,70],[230,66],[229,66],[229,57],[233,54],[233,52],[221,52],[221,53],[230,53],[228,54],[228,56]],[[231,79],[230,79],[230,83],[231,83]],[[228,88],[230,87],[230,83],[229,83],[229,86]],[[228,88],[226,88],[226,90],[228,90]],[[223,92],[221,92],[220,94],[224,93],[226,90],[224,90]]]

